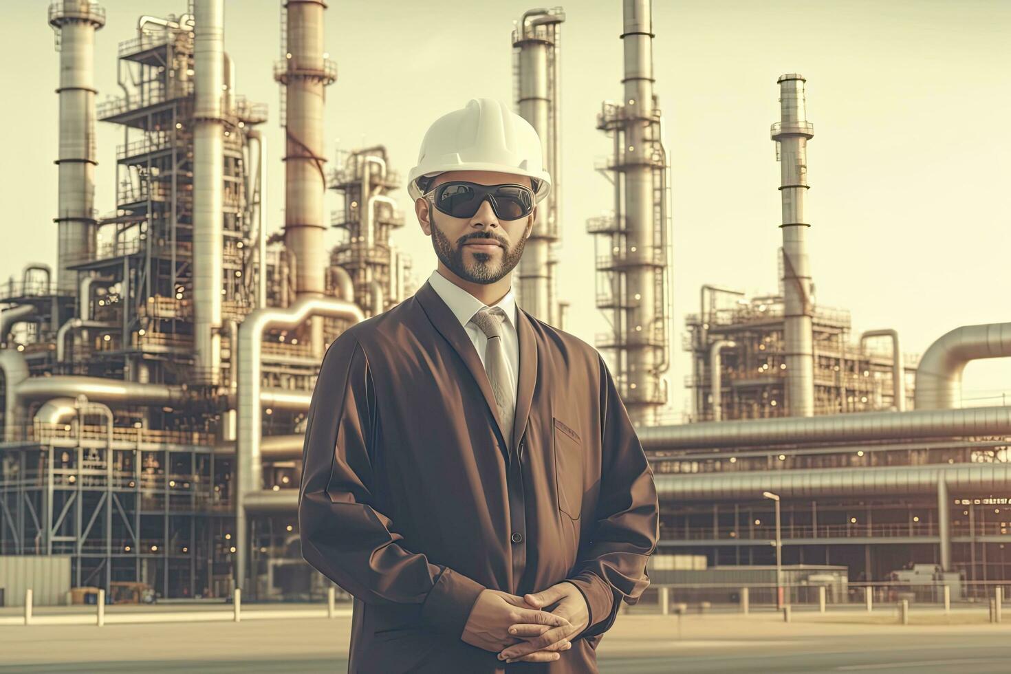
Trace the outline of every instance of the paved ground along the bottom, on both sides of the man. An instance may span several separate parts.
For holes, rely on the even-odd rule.
[[[604,674],[1007,672],[1011,621],[911,624],[853,614],[626,614],[602,641]],[[878,620],[889,620],[881,623]],[[0,628],[8,672],[344,672],[350,619]]]

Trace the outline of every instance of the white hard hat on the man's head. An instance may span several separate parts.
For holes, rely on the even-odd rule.
[[[532,178],[537,201],[551,191],[541,138],[529,121],[493,98],[472,98],[467,106],[433,122],[407,174],[411,199],[422,196],[418,179],[446,171],[497,171]]]

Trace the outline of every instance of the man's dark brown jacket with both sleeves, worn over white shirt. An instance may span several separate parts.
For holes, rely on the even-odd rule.
[[[653,473],[595,349],[518,311],[503,438],[466,330],[426,283],[330,346],[305,430],[302,556],[355,597],[349,671],[596,671],[619,601],[656,548]],[[568,580],[590,623],[550,663],[460,637],[477,595]]]

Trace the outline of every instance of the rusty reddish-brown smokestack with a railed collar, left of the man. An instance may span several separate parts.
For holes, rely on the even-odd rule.
[[[294,257],[295,296],[326,293],[327,250],[324,247],[325,87],[337,80],[337,69],[324,53],[321,0],[287,0],[284,59],[275,78],[285,87],[284,246]],[[309,336],[323,355],[323,319],[312,318]]]

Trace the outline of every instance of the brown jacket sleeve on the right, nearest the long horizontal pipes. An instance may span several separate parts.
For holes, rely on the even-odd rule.
[[[601,492],[596,524],[573,574],[589,607],[589,623],[573,639],[611,629],[621,601],[636,604],[649,585],[646,560],[659,538],[659,502],[653,470],[611,372],[598,354],[601,369]]]

